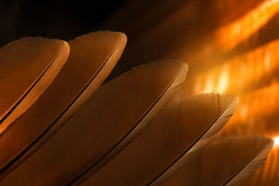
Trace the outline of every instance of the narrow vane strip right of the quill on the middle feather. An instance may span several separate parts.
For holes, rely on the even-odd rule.
[[[180,89],[180,87],[183,85],[186,74],[188,72],[188,65],[184,62],[181,62],[181,69],[177,73],[176,77],[172,80],[172,83],[167,87],[167,90],[163,93],[163,95],[160,96],[160,98],[156,101],[155,105],[152,106],[149,113],[145,115],[144,118],[140,121],[139,124],[133,129],[133,131],[130,131],[130,133],[122,139],[122,141],[113,149],[111,150],[103,159],[98,162],[95,166],[91,167],[89,170],[86,170],[84,173],[82,173],[81,176],[78,178],[75,178],[70,185],[80,185],[84,182],[84,180],[88,179],[93,173],[96,173],[101,167],[103,167],[107,162],[112,159],[116,154],[118,154],[123,148],[130,143],[130,141],[133,140],[137,136],[137,134],[140,134],[140,131],[146,127],[151,120],[156,117],[156,115],[159,113],[160,110],[162,110],[168,103],[168,101],[174,96],[177,90]]]

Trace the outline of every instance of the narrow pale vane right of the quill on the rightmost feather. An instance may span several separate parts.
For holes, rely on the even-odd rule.
[[[269,152],[273,148],[274,141],[268,143],[262,150],[253,157],[250,162],[248,162],[243,168],[236,173],[230,180],[227,181],[224,185],[232,186],[232,185],[240,185],[244,180],[246,180],[249,176],[251,176],[257,169],[259,169],[262,164],[266,161]]]

